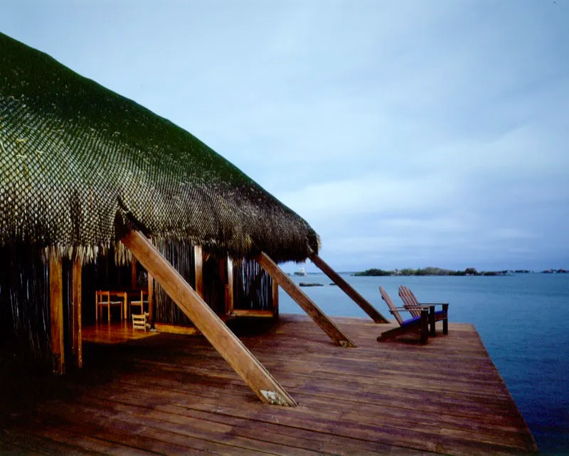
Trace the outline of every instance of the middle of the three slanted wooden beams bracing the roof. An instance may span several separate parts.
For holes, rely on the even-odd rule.
[[[289,296],[306,312],[309,317],[314,320],[314,322],[321,327],[321,329],[326,332],[327,335],[334,340],[337,345],[341,347],[357,347],[350,338],[340,329],[336,323],[334,323],[328,315],[326,315],[322,310],[304,294],[299,286],[292,281],[292,279],[285,274],[282,269],[277,266],[275,261],[272,261],[270,257],[261,252],[257,258],[257,262],[262,266],[262,268],[267,271],[272,277],[272,280],[281,286]]]

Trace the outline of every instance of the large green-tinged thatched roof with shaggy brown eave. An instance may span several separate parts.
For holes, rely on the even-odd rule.
[[[90,251],[147,234],[301,261],[318,237],[195,136],[0,33],[0,242]]]

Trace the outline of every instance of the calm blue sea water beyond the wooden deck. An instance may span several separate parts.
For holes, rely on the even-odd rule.
[[[422,302],[450,303],[450,321],[476,325],[540,450],[569,453],[569,274],[341,276],[388,318],[380,285],[394,302],[407,285]],[[327,314],[367,317],[324,274],[293,280],[326,284],[303,290]],[[279,297],[281,313],[302,313],[284,291]]]

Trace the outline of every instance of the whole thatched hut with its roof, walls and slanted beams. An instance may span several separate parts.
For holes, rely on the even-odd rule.
[[[278,262],[311,258],[385,321],[321,261],[302,217],[206,144],[2,34],[0,245],[1,334],[57,373],[70,357],[81,366],[93,291],[135,288],[137,271],[151,322],[193,322],[269,403],[294,406],[220,316],[274,315],[280,285],[336,344],[353,346]]]

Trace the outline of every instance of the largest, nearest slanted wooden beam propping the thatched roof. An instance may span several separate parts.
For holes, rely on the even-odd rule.
[[[130,231],[122,242],[261,401],[280,406],[297,405],[142,233]],[[223,398],[220,401],[223,403]]]

